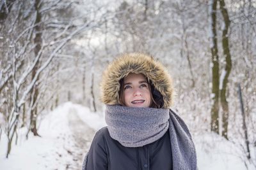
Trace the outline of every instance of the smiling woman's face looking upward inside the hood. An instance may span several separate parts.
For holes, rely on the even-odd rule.
[[[148,108],[151,103],[147,79],[143,74],[129,73],[124,78],[124,104],[133,108]]]

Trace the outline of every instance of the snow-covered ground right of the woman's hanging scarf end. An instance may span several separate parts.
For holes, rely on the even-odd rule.
[[[208,132],[194,136],[199,169],[242,170],[246,166],[241,158],[241,151],[226,139]]]

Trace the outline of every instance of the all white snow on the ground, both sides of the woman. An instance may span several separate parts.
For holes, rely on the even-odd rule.
[[[77,115],[84,124],[88,124],[95,131],[106,125],[102,113],[91,113],[88,108],[79,104],[62,104],[42,120],[38,130],[42,138],[29,136],[29,139],[26,140],[24,137],[26,130],[19,131],[18,145],[13,145],[8,159],[5,158],[7,139],[6,136],[2,136],[0,143],[1,169],[81,169],[80,166],[77,166],[74,154],[72,154],[74,150],[77,150],[74,136],[81,138],[79,134],[72,133],[72,128],[76,126],[76,122],[70,124],[70,117],[72,118],[73,115]],[[83,131],[83,129],[81,130]],[[86,133],[83,132],[83,134]],[[233,143],[211,132],[198,134],[193,136],[193,139],[196,145],[199,169],[246,169],[239,156],[241,154]],[[81,152],[86,153],[83,148],[81,148]]]

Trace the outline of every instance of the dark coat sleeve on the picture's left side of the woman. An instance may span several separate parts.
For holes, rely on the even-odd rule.
[[[100,129],[94,136],[92,145],[84,157],[83,170],[107,170],[108,155],[104,134]]]

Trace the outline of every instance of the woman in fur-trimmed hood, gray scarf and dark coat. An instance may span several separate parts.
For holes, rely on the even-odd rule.
[[[108,126],[95,134],[83,169],[196,169],[188,127],[170,110],[172,94],[169,74],[152,57],[114,60],[102,77]]]

